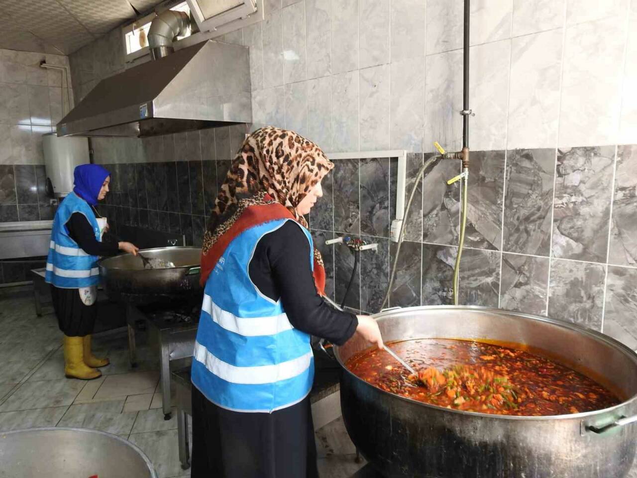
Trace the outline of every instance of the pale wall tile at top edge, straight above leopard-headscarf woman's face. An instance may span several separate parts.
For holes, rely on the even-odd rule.
[[[330,0],[305,0],[308,78],[331,73]]]

